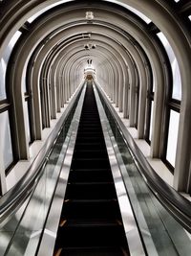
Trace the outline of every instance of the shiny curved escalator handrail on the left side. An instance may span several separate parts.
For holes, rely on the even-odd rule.
[[[37,156],[32,162],[31,167],[28,169],[25,175],[9,190],[2,198],[0,198],[0,223],[4,221],[12,212],[12,210],[17,209],[19,205],[32,193],[32,188],[38,182],[41,173],[43,172],[43,165],[47,162],[49,154],[53,149],[54,143],[61,131],[62,125],[71,112],[75,100],[83,87],[84,82],[82,82],[74,93],[74,97],[70,104],[65,109],[61,118],[53,128],[53,131],[49,135],[47,141],[43,145],[42,149],[39,151]]]

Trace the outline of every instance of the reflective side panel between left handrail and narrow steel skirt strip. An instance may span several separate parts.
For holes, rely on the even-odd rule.
[[[74,100],[76,100],[76,98]],[[78,118],[76,113],[79,112],[80,104],[82,105],[81,100],[79,100],[78,105],[76,106],[76,119]],[[72,109],[73,105],[71,105],[70,109]],[[2,224],[0,230],[1,242],[3,242],[3,244],[0,243],[1,255],[32,256],[35,254],[52,202],[58,175],[63,167],[63,159],[66,157],[66,151],[68,151],[69,155],[71,150],[69,150],[68,147],[69,142],[71,141],[71,136],[73,136],[73,132],[75,132],[74,122],[73,119],[73,124],[70,126],[66,137],[66,131],[63,129],[63,131],[60,132],[61,137],[58,137],[56,143],[54,141],[53,151],[49,154],[47,164],[44,166],[43,174],[39,174],[40,178],[34,180],[37,185],[32,191],[32,197],[25,203],[25,207],[22,207],[22,211],[19,209],[21,213],[16,212],[16,214],[11,216],[11,220],[8,221],[7,225]],[[64,140],[64,144],[62,143],[62,140]],[[58,151],[58,149],[61,149],[61,151]],[[65,163],[67,161],[68,160],[66,159]],[[53,232],[46,228],[45,233],[53,237]]]

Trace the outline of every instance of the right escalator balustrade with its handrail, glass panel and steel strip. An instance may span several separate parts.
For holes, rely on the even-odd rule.
[[[167,184],[164,184],[149,164],[146,164],[146,160],[142,160],[143,156],[138,158],[141,153],[138,152],[135,142],[124,126],[122,126],[121,120],[98,84],[96,84],[96,88],[117,142],[118,147],[115,148],[115,151],[117,152],[117,149],[119,150],[119,158],[122,158],[125,165],[126,170],[123,170],[123,168],[120,168],[120,170],[147,253],[153,255],[150,243],[153,241],[159,255],[190,255],[190,239],[183,229],[185,224],[189,226],[189,221],[185,221],[189,216],[189,202],[185,198],[181,198]],[[117,160],[119,158],[117,157]],[[159,180],[162,184],[160,184]],[[131,187],[133,187],[133,190]],[[182,216],[185,217],[184,213],[180,210],[180,215],[177,218],[176,212],[173,212],[173,207],[171,208],[172,202],[169,205],[168,198],[163,198],[164,190],[169,200],[174,200],[173,197],[176,194],[177,203],[179,204],[179,201],[180,205],[184,205],[185,203],[184,206],[186,206],[187,211],[185,220],[180,221]],[[162,191],[161,195],[160,191]],[[172,193],[174,196],[172,196]],[[141,212],[138,209],[139,207]],[[184,222],[183,226],[180,224],[182,221]]]

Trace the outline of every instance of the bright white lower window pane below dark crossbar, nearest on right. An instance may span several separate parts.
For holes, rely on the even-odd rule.
[[[168,129],[168,143],[166,159],[175,167],[176,151],[177,151],[177,140],[179,131],[180,113],[174,110],[170,111],[170,123]]]

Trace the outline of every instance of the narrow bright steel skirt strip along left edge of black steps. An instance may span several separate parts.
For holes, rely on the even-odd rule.
[[[70,138],[70,142],[68,145],[68,149],[66,151],[66,156],[62,165],[61,174],[58,179],[58,183],[56,186],[55,194],[53,196],[53,203],[50,209],[50,213],[48,219],[46,221],[45,229],[43,232],[42,240],[39,246],[38,256],[52,256],[53,255],[53,247],[56,238],[56,232],[58,228],[58,222],[61,215],[62,204],[65,197],[66,187],[68,176],[71,168],[71,163],[73,159],[74,152],[74,144],[77,135],[77,129],[79,125],[80,115],[82,104],[84,100],[86,86],[82,91],[82,95],[80,97],[79,103],[76,107],[76,111],[74,113],[74,121],[72,122],[73,132]]]

